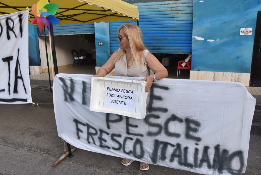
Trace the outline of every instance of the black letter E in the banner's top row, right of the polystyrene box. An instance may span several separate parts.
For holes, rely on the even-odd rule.
[[[154,88],[159,88],[159,89],[164,89],[164,90],[169,89],[167,86],[157,86],[157,85],[151,86],[151,89],[150,89],[151,93],[150,93],[150,101],[149,101],[148,111],[149,112],[153,112],[153,111],[168,112],[167,108],[152,107],[153,100],[162,100],[161,96],[154,95]]]

